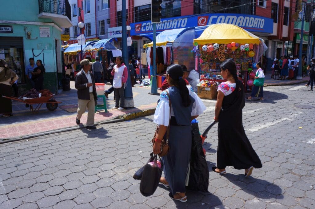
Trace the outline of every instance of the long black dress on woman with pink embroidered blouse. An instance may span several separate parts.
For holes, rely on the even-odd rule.
[[[243,127],[244,103],[243,85],[241,91],[236,88],[225,96],[218,124],[217,167],[223,169],[233,166],[235,169],[247,169],[251,166],[261,168],[261,161],[250,144]]]

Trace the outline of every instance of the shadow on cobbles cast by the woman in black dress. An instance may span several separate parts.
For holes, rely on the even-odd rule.
[[[282,189],[278,185],[272,184],[266,180],[253,178],[252,176],[246,178],[243,174],[235,175],[232,173],[226,173],[223,177],[231,181],[236,187],[242,189],[242,191],[254,195],[257,198],[284,198]]]

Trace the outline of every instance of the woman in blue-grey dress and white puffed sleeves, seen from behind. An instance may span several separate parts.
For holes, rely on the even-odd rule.
[[[178,64],[166,69],[166,80],[170,86],[160,94],[155,110],[153,122],[159,126],[159,130],[154,139],[153,153],[161,152],[160,143],[163,138],[166,139],[169,127],[168,144],[171,148],[162,157],[165,178],[161,177],[160,182],[171,189],[170,198],[186,202],[185,180],[192,148],[191,121],[202,114],[205,107],[191,87],[186,87],[182,76],[183,70]]]

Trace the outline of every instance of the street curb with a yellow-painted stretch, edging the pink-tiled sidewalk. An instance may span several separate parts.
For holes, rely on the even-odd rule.
[[[129,121],[129,120],[132,120],[135,118],[152,115],[152,114],[154,114],[154,112],[155,112],[155,108],[146,109],[146,110],[139,110],[139,111],[136,111],[133,113],[127,113],[127,114],[119,115],[119,116],[115,117],[114,119],[109,119],[109,120],[97,122],[95,125],[98,126],[98,125],[103,125],[103,124],[108,124],[108,123]],[[83,125],[72,126],[72,127],[67,127],[67,128],[55,129],[52,131],[34,133],[34,134],[30,134],[30,135],[26,135],[26,136],[20,136],[20,137],[16,137],[16,138],[0,139],[1,140],[0,144],[5,144],[5,143],[9,143],[9,142],[16,142],[16,141],[29,139],[29,138],[41,137],[41,136],[46,136],[49,134],[62,133],[62,132],[66,132],[66,131],[73,131],[73,130],[83,129],[83,128],[85,128],[85,126],[83,126]]]

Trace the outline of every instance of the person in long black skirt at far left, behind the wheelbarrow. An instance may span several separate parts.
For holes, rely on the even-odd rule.
[[[9,68],[5,60],[0,59],[0,114],[2,117],[10,117],[12,114],[12,100],[2,96],[12,96],[12,85],[19,76]]]

